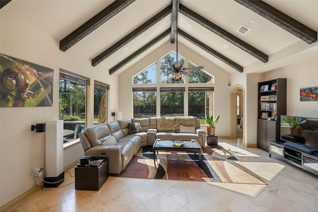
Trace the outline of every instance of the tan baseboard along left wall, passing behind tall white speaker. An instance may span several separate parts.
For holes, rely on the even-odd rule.
[[[79,163],[79,161],[80,160],[78,159],[78,160],[74,161],[73,163],[71,163],[70,165],[68,165],[67,167],[65,167],[64,172],[67,172],[70,169],[72,169],[73,167],[75,167]],[[31,189],[27,190],[26,192],[22,193],[21,195],[19,195],[18,197],[14,198],[10,202],[4,204],[3,206],[1,206],[0,212],[7,212],[7,211],[11,210],[12,208],[14,208],[15,206],[19,205],[24,200],[28,199],[31,195],[33,195],[35,192],[41,190],[42,185],[43,185],[43,182],[40,183],[40,186],[36,185],[36,186],[32,187]]]

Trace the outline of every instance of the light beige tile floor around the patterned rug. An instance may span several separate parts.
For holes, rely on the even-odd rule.
[[[65,173],[59,188],[38,191],[10,212],[318,211],[317,176],[240,143],[219,139],[268,185],[109,177],[99,191],[76,191],[74,177]]]

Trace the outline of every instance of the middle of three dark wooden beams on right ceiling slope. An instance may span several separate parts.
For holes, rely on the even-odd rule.
[[[251,56],[257,58],[258,60],[262,61],[263,63],[268,62],[268,55],[264,54],[263,52],[259,51],[256,48],[252,47],[251,45],[245,43],[244,41],[240,40],[238,37],[232,35],[228,31],[222,29],[221,27],[217,26],[216,24],[212,23],[211,21],[207,20],[206,18],[202,17],[201,15],[195,13],[191,9],[187,8],[186,6],[180,4],[179,12],[181,14],[185,15],[186,17],[190,18],[191,20],[204,26],[208,30],[219,35],[220,37],[224,38],[225,40],[231,42],[235,46],[244,50],[245,52],[247,52]]]

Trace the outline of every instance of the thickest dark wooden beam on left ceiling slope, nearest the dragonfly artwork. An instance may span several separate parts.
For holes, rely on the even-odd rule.
[[[97,29],[103,23],[108,21],[110,18],[118,14],[121,10],[125,9],[135,0],[115,0],[105,9],[100,11],[97,15],[86,21],[83,25],[73,31],[71,34],[66,36],[60,41],[60,50],[65,52],[70,49],[73,45],[87,36],[89,33]]]

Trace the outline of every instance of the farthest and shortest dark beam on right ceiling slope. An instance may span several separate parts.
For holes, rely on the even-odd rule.
[[[182,31],[181,29],[177,29],[177,30],[178,30],[178,35],[181,35],[183,38],[185,38],[188,41],[190,41],[191,43],[197,45],[198,47],[200,47],[204,51],[210,53],[211,55],[213,55],[214,57],[218,58],[219,60],[221,60],[222,62],[226,63],[227,65],[231,66],[232,68],[236,69],[237,71],[243,72],[243,67],[239,66],[239,64],[235,63],[234,61],[230,60],[229,58],[225,57],[224,55],[218,53],[214,49],[212,49],[209,46],[205,45],[201,41],[195,39],[194,37],[192,37],[191,35],[187,34],[184,31]]]

